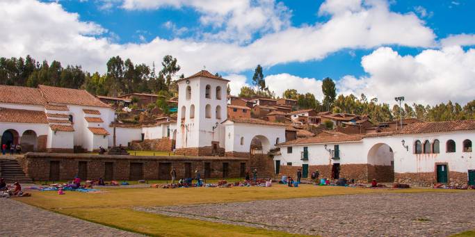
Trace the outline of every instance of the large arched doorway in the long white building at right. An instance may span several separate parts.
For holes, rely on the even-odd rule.
[[[368,181],[376,179],[378,182],[394,181],[394,152],[389,145],[378,143],[368,152]]]

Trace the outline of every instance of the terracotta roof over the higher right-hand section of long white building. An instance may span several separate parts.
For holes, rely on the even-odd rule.
[[[446,122],[416,122],[403,127],[398,133],[442,133],[447,131],[475,130],[475,120],[459,120]]]

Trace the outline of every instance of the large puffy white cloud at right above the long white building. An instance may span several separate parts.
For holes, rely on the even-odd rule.
[[[390,104],[396,96],[405,96],[410,104],[449,100],[465,103],[475,98],[475,49],[446,47],[401,56],[389,47],[381,47],[364,56],[362,66],[368,76],[344,76],[337,83],[339,92],[356,96],[364,93]]]

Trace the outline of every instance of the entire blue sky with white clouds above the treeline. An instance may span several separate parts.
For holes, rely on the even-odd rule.
[[[257,65],[277,96],[337,92],[394,104],[475,99],[472,0],[2,0],[0,56],[106,72],[112,56],[185,76],[209,70],[250,85]]]

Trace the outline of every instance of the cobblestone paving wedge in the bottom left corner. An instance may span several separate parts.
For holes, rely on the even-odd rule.
[[[17,197],[22,198],[22,197]],[[0,198],[0,236],[140,236]]]

